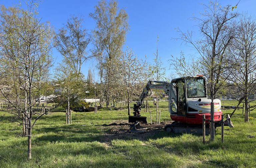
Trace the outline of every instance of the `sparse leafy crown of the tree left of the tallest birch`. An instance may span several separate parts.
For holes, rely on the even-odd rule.
[[[81,17],[71,16],[55,35],[54,42],[66,63],[77,74],[81,73],[82,64],[89,58],[86,49],[91,41],[91,35],[83,28],[82,23]]]

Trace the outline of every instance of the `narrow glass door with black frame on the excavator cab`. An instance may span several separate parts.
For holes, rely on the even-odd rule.
[[[177,114],[178,116],[186,116],[186,96],[184,79],[179,79],[177,83]]]

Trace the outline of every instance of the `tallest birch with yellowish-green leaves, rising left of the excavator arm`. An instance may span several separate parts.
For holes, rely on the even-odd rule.
[[[120,57],[122,53],[126,33],[129,30],[128,14],[124,9],[119,10],[117,5],[115,0],[111,0],[109,3],[102,0],[95,6],[94,13],[89,14],[97,24],[95,34],[107,55],[104,64],[106,73],[104,76],[104,97],[107,107],[111,97],[111,82],[113,82],[110,78],[115,74],[113,67],[116,65],[116,58]]]

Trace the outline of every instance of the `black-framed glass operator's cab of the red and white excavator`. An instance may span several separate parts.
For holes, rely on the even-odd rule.
[[[171,85],[169,108],[171,118],[174,121],[186,123],[190,118],[193,120],[195,113],[203,112],[201,105],[207,103],[201,104],[200,101],[207,100],[205,77],[198,75],[176,78],[171,81]]]

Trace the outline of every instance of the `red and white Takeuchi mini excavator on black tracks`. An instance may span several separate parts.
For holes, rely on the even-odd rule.
[[[171,83],[165,81],[148,81],[138,101],[134,104],[133,116],[129,116],[129,123],[137,121],[147,123],[146,117],[140,115],[141,107],[146,97],[151,95],[151,89],[161,89],[169,96],[170,117],[174,121],[165,126],[165,131],[174,133],[202,133],[202,117],[205,115],[206,134],[209,134],[211,119],[211,99],[207,98],[206,78],[203,75],[180,77]],[[221,101],[214,99],[215,127],[221,126]],[[224,126],[233,128],[229,115]],[[138,124],[138,123],[137,123]]]

